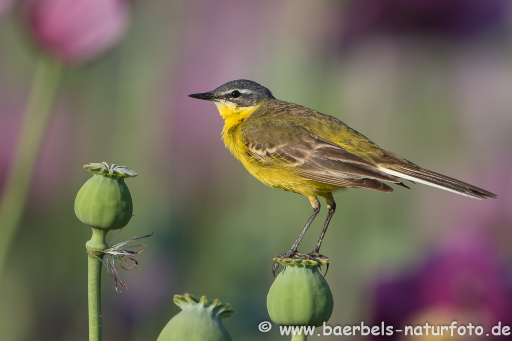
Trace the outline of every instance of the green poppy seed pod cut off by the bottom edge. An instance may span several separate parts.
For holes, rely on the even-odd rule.
[[[174,295],[174,303],[182,310],[167,322],[157,341],[231,341],[221,319],[233,314],[230,305],[218,299],[198,300],[188,293]]]

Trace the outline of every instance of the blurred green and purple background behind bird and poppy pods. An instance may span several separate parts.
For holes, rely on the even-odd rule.
[[[105,340],[156,339],[179,311],[173,294],[185,292],[229,302],[236,313],[224,324],[233,339],[283,339],[277,326],[262,333],[258,324],[269,321],[272,257],[290,247],[310,204],[254,179],[224,148],[216,108],[186,96],[241,78],[500,198],[413,184],[336,194],[322,247],[331,259],[331,326],[380,325],[382,316],[511,321],[512,7],[382,4],[132,3],[122,42],[64,75],[0,279],[0,339],[86,339],[91,232],[73,203],[90,177],[82,165],[102,161],[139,174],[126,180],[135,216],[118,240],[154,233],[138,257],[142,272],[121,273],[127,291],[116,293],[104,272]],[[14,6],[0,18],[0,190],[39,54],[21,17]],[[303,252],[320,232],[321,203]],[[451,265],[436,272],[432,262]],[[432,276],[435,285],[423,281]],[[382,289],[396,283],[401,289]]]

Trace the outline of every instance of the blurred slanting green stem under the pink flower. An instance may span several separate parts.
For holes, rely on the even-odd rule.
[[[49,121],[61,71],[62,65],[58,62],[47,56],[39,57],[16,152],[0,198],[0,278],[3,278],[9,247],[22,219],[37,152]]]

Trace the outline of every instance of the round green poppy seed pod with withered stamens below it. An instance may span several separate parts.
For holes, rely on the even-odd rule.
[[[133,203],[125,177],[137,173],[124,166],[89,164],[83,166],[94,175],[80,188],[75,199],[75,214],[86,225],[100,230],[121,229],[130,221]]]

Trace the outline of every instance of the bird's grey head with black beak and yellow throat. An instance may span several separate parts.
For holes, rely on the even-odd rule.
[[[265,86],[246,79],[233,80],[213,91],[188,96],[213,102],[224,119],[243,119],[262,103],[275,99]]]

